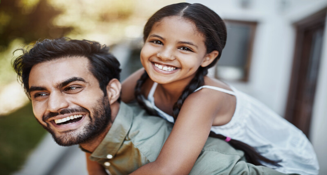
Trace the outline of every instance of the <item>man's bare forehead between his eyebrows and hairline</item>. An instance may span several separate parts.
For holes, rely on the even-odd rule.
[[[29,87],[61,83],[71,77],[95,78],[89,70],[89,60],[83,56],[62,57],[36,64],[29,74]]]

